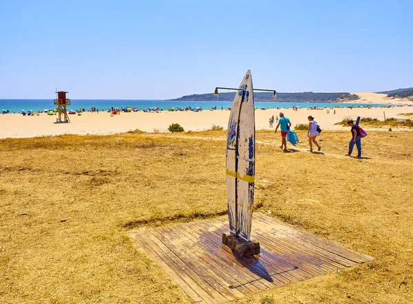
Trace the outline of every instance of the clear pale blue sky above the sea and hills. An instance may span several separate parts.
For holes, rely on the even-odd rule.
[[[0,99],[413,87],[413,1],[0,1]]]

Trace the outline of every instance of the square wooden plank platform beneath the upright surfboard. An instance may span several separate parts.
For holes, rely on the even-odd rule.
[[[133,238],[195,303],[228,303],[372,260],[260,212],[252,237],[260,256],[240,258],[222,244],[228,217],[138,230]]]

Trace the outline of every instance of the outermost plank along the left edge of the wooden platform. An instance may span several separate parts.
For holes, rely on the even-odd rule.
[[[162,254],[159,254],[158,250],[153,250],[151,246],[145,241],[145,239],[142,239],[142,237],[139,235],[139,233],[134,234],[134,238],[138,241],[138,244],[140,247],[142,247],[149,256],[153,259],[153,261],[156,261],[158,265],[162,266],[162,268],[171,276],[173,281],[175,281],[181,288],[184,290],[184,292],[193,299],[196,303],[201,303],[203,301],[202,296],[198,294],[195,290],[193,290],[192,287],[196,285],[195,281],[193,281],[189,276],[184,276],[182,278],[182,274],[177,274],[175,267],[171,266],[171,263],[173,263],[167,256],[163,256]],[[191,287],[192,286],[192,287]],[[210,302],[212,303],[212,302]]]

